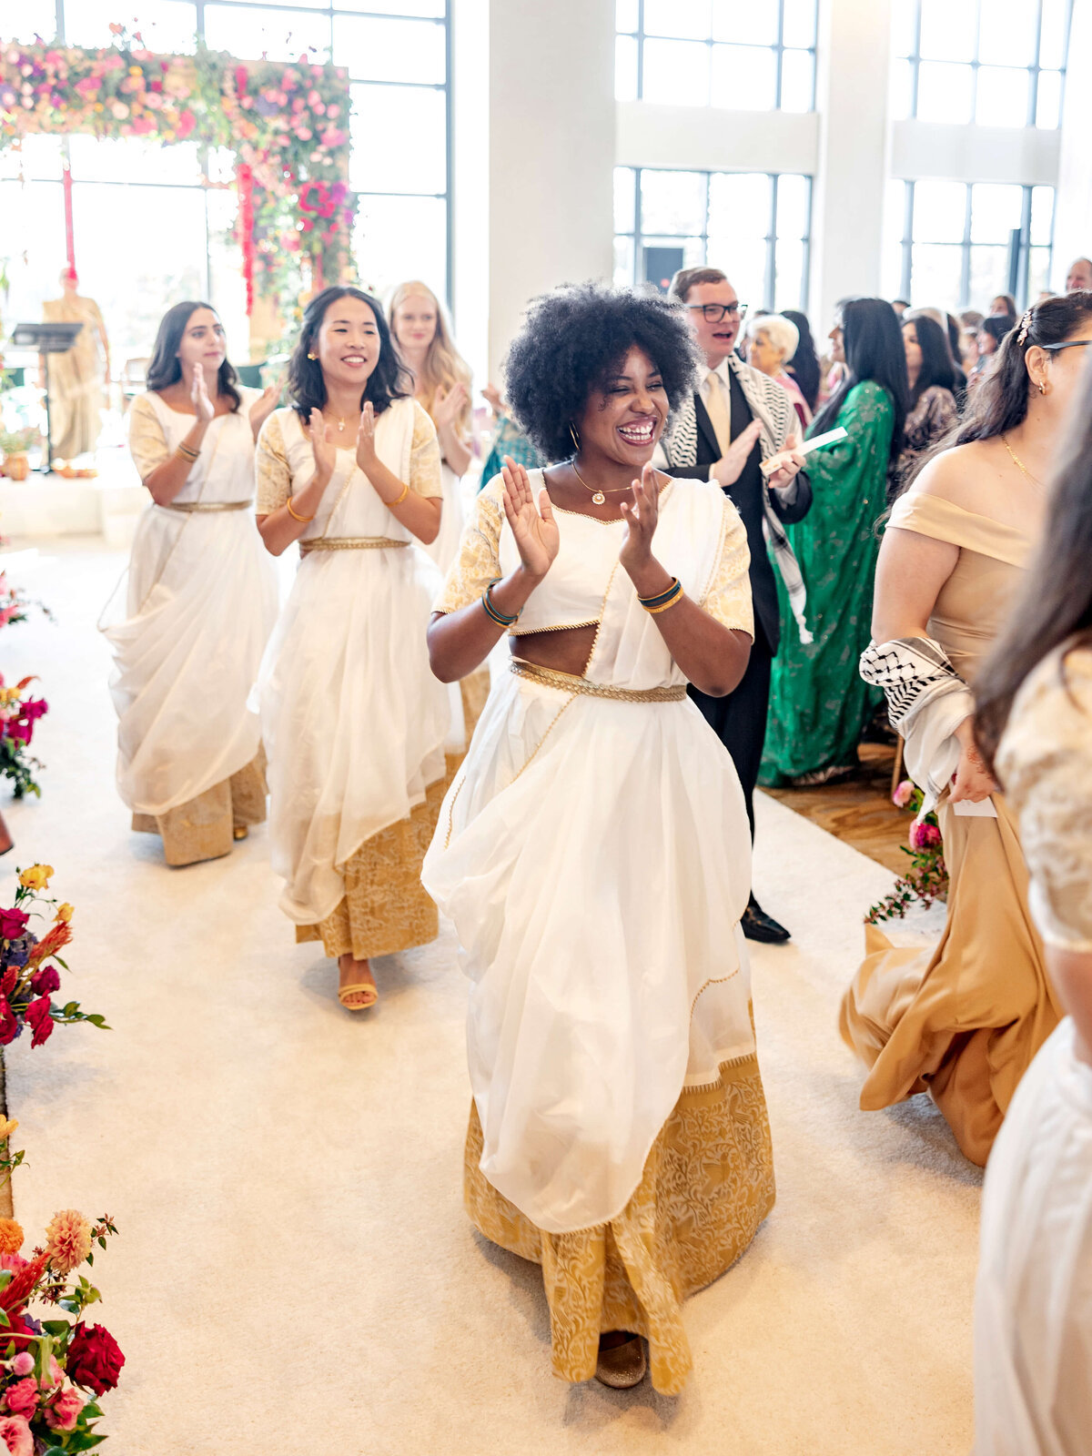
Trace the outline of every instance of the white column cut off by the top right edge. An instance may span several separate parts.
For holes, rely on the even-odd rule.
[[[1092,0],[1073,0],[1069,71],[1054,199],[1054,288],[1066,287],[1075,258],[1092,258]]]

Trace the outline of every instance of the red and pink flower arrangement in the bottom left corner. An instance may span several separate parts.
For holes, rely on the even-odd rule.
[[[0,1131],[7,1137],[17,1125],[3,1120]],[[0,1219],[0,1452],[61,1456],[106,1440],[95,1428],[98,1402],[116,1386],[125,1356],[108,1329],[87,1324],[102,1296],[77,1271],[116,1232],[108,1216],[90,1223],[63,1208],[28,1255],[22,1227]]]

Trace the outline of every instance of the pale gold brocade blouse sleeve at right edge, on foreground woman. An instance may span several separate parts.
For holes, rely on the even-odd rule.
[[[1051,652],[1016,695],[997,753],[1047,945],[1092,952],[1092,649]]]

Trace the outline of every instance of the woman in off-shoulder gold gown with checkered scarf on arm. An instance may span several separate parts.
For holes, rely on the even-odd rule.
[[[1008,335],[952,447],[891,511],[860,664],[887,693],[926,810],[936,807],[948,919],[932,951],[868,926],[842,1035],[869,1069],[862,1108],[929,1092],[976,1163],[1059,1016],[1016,821],[974,745],[976,684],[1040,540],[1091,339],[1092,293],[1048,298]]]

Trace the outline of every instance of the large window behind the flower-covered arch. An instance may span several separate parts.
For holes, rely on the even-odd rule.
[[[374,12],[374,13],[373,13]],[[202,35],[243,60],[303,52],[347,67],[351,175],[360,194],[354,255],[361,281],[384,290],[422,278],[450,287],[448,0],[26,0],[13,39],[109,45],[119,19],[150,50],[191,52]],[[132,19],[135,16],[135,19]],[[10,35],[10,31],[6,31]],[[150,352],[154,326],[178,298],[221,312],[236,358],[246,355],[242,259],[233,240],[230,157],[137,138],[29,137],[0,156],[3,252],[12,280],[6,317],[39,317],[64,264],[61,160],[73,176],[82,288],[106,316],[116,352]]]

